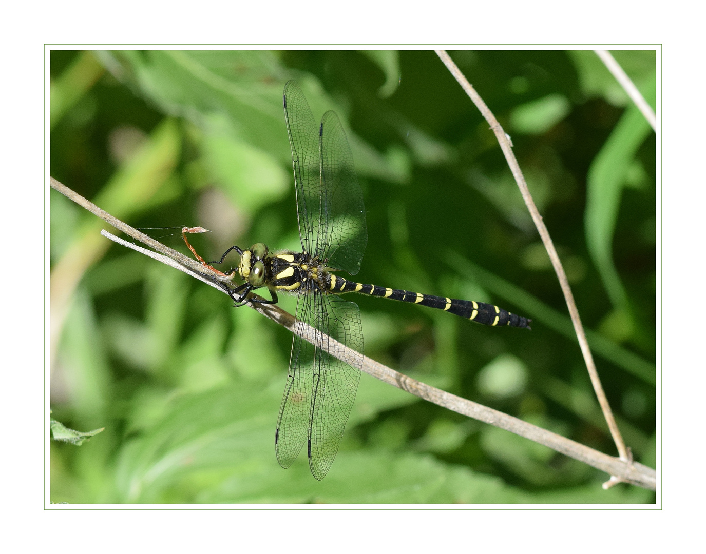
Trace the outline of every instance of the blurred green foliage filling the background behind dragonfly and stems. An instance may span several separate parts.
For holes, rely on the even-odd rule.
[[[618,424],[654,466],[654,133],[590,52],[451,52],[505,130],[589,331]],[[654,102],[654,52],[613,52]],[[361,282],[492,301],[532,332],[363,296],[366,354],[615,454],[554,272],[488,125],[432,52],[54,51],[51,174],[208,259],[298,249],[282,88],[347,127],[369,241]],[[95,232],[52,191],[52,264]],[[171,236],[170,236],[171,235]],[[92,254],[52,367],[53,502],[654,502],[648,491],[363,375],[326,478],[281,469],[291,335],[113,245]],[[229,258],[227,264],[236,263]],[[295,299],[282,300],[294,311]]]

